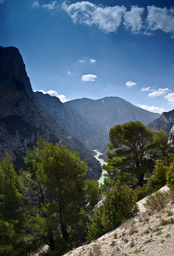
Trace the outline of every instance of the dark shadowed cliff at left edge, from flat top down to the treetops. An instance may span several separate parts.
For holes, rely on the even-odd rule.
[[[0,47],[0,160],[10,152],[16,169],[24,166],[27,148],[43,134],[36,104],[19,50]],[[46,129],[44,138],[49,139]]]

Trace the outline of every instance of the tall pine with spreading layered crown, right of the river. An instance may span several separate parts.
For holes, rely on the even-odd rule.
[[[103,166],[108,177],[114,180],[135,183],[141,186],[147,171],[145,157],[154,149],[154,131],[148,129],[140,121],[130,121],[115,125],[109,132],[108,164]]]

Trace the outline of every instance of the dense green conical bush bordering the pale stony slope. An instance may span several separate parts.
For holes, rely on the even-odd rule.
[[[91,242],[118,226],[125,219],[135,216],[139,209],[136,192],[117,181],[103,205],[87,224],[87,241]]]

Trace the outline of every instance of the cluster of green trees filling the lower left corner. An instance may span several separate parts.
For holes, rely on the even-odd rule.
[[[94,206],[100,194],[98,182],[86,178],[87,164],[42,138],[24,159],[28,171],[18,176],[10,158],[0,166],[3,255],[25,255],[42,244],[59,255],[78,246],[85,239],[86,205]]]

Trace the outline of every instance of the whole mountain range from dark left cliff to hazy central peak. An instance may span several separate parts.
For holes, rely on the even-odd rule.
[[[99,179],[102,168],[92,150],[106,145],[111,127],[160,116],[118,97],[77,99],[62,103],[57,97],[33,92],[22,57],[15,47],[0,47],[0,153],[11,152],[16,169],[23,167],[27,148],[38,135],[67,145],[88,163],[88,177]]]

